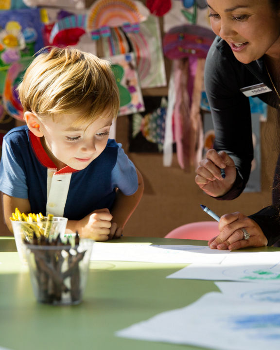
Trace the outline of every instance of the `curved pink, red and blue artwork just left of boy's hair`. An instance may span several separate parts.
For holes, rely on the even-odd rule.
[[[13,63],[11,65],[6,75],[3,91],[3,105],[6,112],[18,120],[23,120],[23,107],[18,100],[16,88],[18,87],[20,73],[24,69],[24,66],[20,63]]]

